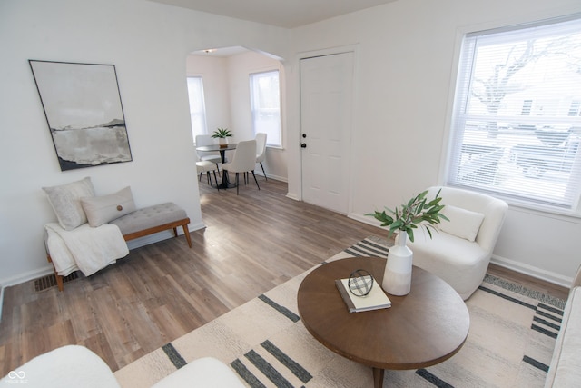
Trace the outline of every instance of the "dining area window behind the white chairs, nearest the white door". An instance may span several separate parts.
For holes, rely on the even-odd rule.
[[[281,90],[279,71],[255,73],[251,81],[252,129],[267,134],[267,144],[281,147]]]

